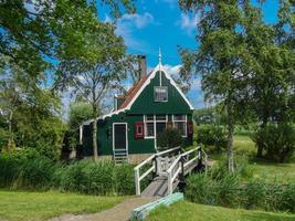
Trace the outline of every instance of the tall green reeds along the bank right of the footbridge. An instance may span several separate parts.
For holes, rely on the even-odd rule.
[[[224,172],[223,167],[208,175],[197,173],[188,178],[185,194],[188,200],[204,204],[295,211],[294,183],[267,183],[254,178],[242,182],[240,178],[238,172]]]

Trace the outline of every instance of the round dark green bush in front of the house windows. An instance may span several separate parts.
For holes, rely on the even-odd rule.
[[[182,137],[178,129],[175,128],[167,128],[157,136],[157,145],[161,150],[178,147],[181,144]]]

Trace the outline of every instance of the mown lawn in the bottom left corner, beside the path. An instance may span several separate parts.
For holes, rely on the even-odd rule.
[[[63,213],[91,213],[114,207],[124,197],[0,190],[0,220],[46,220]]]

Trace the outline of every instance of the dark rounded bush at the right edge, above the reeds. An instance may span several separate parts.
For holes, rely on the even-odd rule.
[[[265,151],[270,160],[284,162],[295,151],[295,129],[289,125],[270,125],[260,128],[253,136],[256,147]]]

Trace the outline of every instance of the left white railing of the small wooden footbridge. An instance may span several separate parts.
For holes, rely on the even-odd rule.
[[[143,162],[140,162],[139,165],[137,165],[134,168],[134,172],[135,172],[135,188],[136,188],[136,194],[140,194],[140,181],[148,176],[150,172],[157,172],[157,173],[162,173],[166,171],[164,171],[164,165],[167,165],[167,162],[162,162],[162,160],[158,160],[157,158],[161,158],[164,156],[167,156],[173,151],[180,150],[181,147],[175,147],[165,151],[160,151],[157,152],[155,155],[151,155],[149,158],[147,158],[146,160],[144,160]],[[165,159],[165,158],[164,158]],[[167,160],[169,159],[168,157],[166,158]],[[165,160],[164,160],[165,161]],[[149,168],[146,168],[146,171],[140,175],[140,169],[144,166],[148,166],[149,164],[151,164],[151,166]]]

